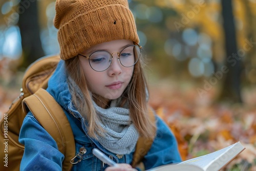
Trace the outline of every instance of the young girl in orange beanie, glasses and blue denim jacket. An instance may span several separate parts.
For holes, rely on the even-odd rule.
[[[47,91],[70,121],[76,154],[84,149],[72,170],[132,170],[139,136],[154,139],[145,169],[180,162],[168,126],[148,115],[141,46],[127,0],[57,0],[54,25],[62,60]],[[20,170],[61,170],[65,156],[31,112],[19,141],[25,145]],[[100,161],[93,148],[117,166]]]

